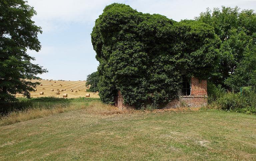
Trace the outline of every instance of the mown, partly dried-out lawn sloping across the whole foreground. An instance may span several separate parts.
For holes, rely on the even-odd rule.
[[[256,116],[239,113],[83,109],[0,127],[0,160],[255,158]]]

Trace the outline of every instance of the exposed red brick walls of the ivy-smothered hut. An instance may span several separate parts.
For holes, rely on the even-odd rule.
[[[118,91],[118,103],[119,109],[133,109],[134,106],[124,104],[123,96]],[[166,106],[161,107],[164,109],[178,108],[181,106],[188,107],[201,107],[207,106],[207,81],[198,80],[197,78],[191,78],[191,95],[181,96],[169,102]]]

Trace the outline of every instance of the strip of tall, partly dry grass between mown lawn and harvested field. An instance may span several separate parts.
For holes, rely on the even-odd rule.
[[[49,99],[51,99],[52,102],[48,102]],[[42,101],[45,101],[43,104],[42,102],[37,102],[37,104],[29,104],[28,107],[15,109],[7,113],[0,117],[0,125],[8,125],[80,109],[85,109],[86,112],[106,115],[121,113],[118,108],[111,105],[105,105],[98,99],[65,99],[63,100],[63,103],[54,102],[56,101],[54,98],[45,98],[45,100]]]

